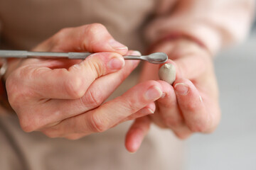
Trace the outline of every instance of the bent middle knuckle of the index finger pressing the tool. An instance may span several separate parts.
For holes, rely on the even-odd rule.
[[[83,82],[80,77],[72,77],[70,79],[67,79],[64,86],[68,95],[73,99],[82,98],[82,96],[85,94]]]

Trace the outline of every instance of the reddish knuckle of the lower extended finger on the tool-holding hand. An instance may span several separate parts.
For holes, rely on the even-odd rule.
[[[102,118],[98,118],[97,114],[93,113],[90,114],[90,127],[92,132],[105,132],[108,128]]]

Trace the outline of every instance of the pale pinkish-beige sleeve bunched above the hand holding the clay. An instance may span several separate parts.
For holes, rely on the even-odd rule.
[[[168,14],[161,13],[149,23],[146,40],[153,44],[171,35],[186,35],[215,54],[245,39],[254,8],[255,0],[179,0]]]

